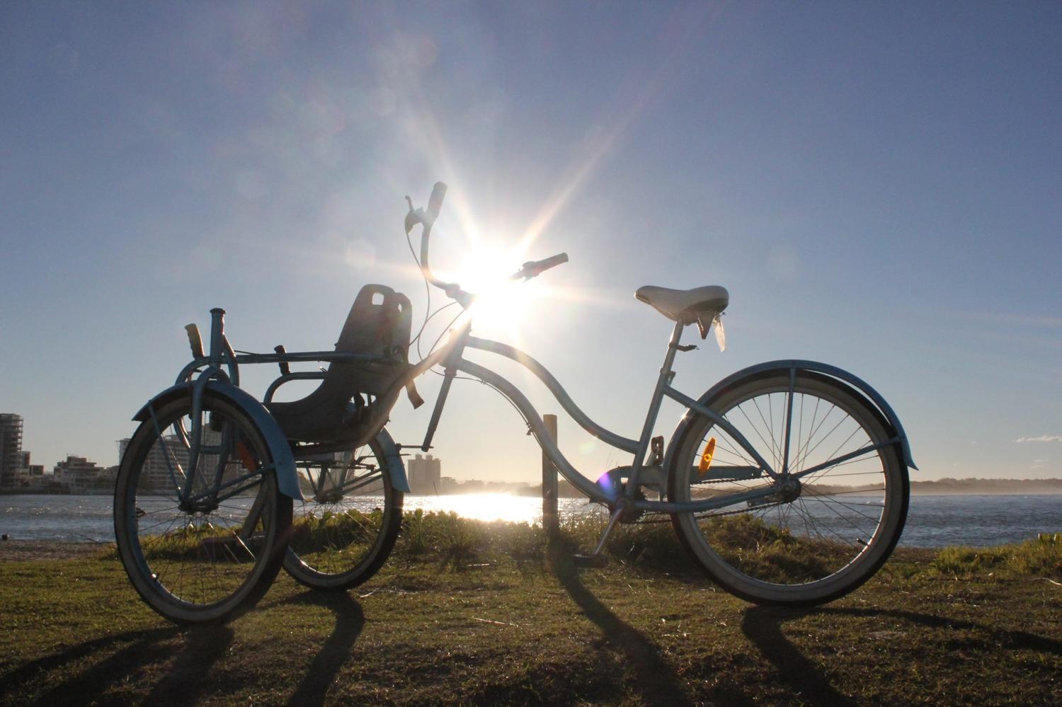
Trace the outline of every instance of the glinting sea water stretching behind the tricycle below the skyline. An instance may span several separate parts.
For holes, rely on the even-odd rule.
[[[0,533],[13,539],[110,541],[112,503],[109,496],[0,496]],[[559,506],[562,517],[600,508],[585,499],[561,499]],[[542,499],[528,496],[407,496],[405,507],[480,520],[542,520]],[[900,544],[984,547],[1057,532],[1062,532],[1062,496],[912,496]]]

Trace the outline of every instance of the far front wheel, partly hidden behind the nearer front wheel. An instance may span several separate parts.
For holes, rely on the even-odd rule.
[[[284,568],[301,584],[342,591],[376,574],[394,549],[404,495],[377,439],[340,454],[296,461],[304,501],[295,504]]]

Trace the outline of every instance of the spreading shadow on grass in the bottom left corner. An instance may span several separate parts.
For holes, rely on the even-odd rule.
[[[174,656],[173,642],[182,637],[184,645]],[[225,655],[232,641],[233,631],[227,626],[195,630],[174,626],[103,636],[20,666],[0,678],[0,695],[14,696],[33,683],[44,680],[50,687],[24,704],[83,705],[105,699],[112,688],[142,679],[157,670],[165,674],[144,703],[172,704],[174,695],[179,695],[182,703],[191,704],[207,690],[210,669]],[[112,650],[115,652],[102,660],[91,662],[95,656]],[[75,671],[72,675],[56,680],[71,670]]]

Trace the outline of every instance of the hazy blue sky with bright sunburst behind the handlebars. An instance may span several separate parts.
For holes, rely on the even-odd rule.
[[[211,307],[254,351],[330,349],[367,282],[419,322],[404,197],[444,180],[440,274],[570,257],[475,333],[624,436],[670,332],[634,291],[722,284],[687,394],[824,361],[891,403],[913,480],[1062,477],[1060,34],[1034,2],[0,3],[0,412],[46,470],[110,465]],[[585,476],[629,463],[561,417]],[[445,476],[539,478],[474,382],[434,444]]]

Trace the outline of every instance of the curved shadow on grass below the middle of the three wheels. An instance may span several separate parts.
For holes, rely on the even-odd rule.
[[[350,657],[354,644],[365,627],[365,614],[361,604],[345,591],[304,591],[269,606],[323,606],[335,615],[336,627],[307,666],[306,674],[288,700],[289,705],[324,704],[328,688]]]

